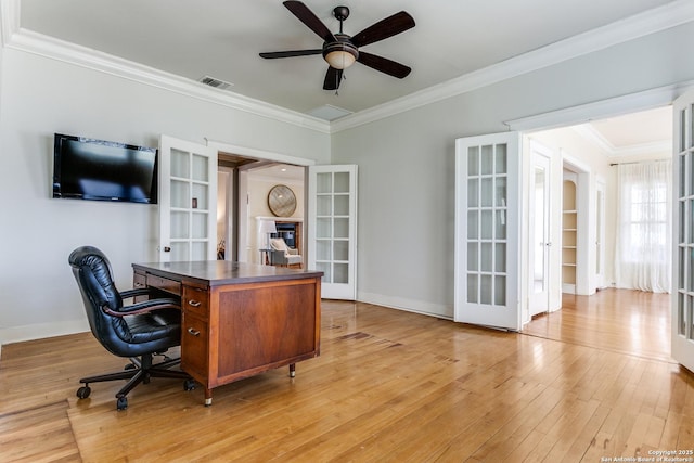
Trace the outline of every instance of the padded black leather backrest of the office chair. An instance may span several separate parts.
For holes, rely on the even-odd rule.
[[[73,250],[68,261],[85,303],[92,334],[106,350],[121,356],[127,351],[124,343],[130,338],[128,324],[123,318],[112,317],[102,310],[104,306],[113,311],[123,307],[123,298],[111,275],[108,259],[98,248],[82,246]]]

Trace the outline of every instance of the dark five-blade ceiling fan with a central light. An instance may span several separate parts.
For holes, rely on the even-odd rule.
[[[333,34],[323,22],[300,1],[285,1],[283,4],[301,23],[323,39],[323,48],[275,51],[260,53],[260,56],[265,59],[277,59],[322,54],[323,59],[330,65],[323,82],[324,90],[337,90],[343,79],[343,70],[355,64],[356,61],[399,79],[407,77],[412,70],[410,67],[388,60],[387,57],[359,50],[360,47],[387,39],[388,37],[414,27],[414,18],[404,11],[381,20],[359,34],[348,36],[343,33],[343,21],[349,16],[349,9],[347,7],[336,7],[333,10],[333,15],[339,21],[339,33]]]

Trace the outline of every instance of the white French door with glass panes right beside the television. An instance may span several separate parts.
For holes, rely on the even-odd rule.
[[[217,255],[217,152],[185,140],[159,140],[159,260]]]

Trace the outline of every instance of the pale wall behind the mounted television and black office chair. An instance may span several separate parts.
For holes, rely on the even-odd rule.
[[[131,262],[156,258],[156,206],[51,198],[54,132],[149,146],[166,133],[330,159],[326,133],[12,49],[2,53],[2,344],[87,329],[67,263],[75,247],[102,248],[123,287],[130,287]]]

